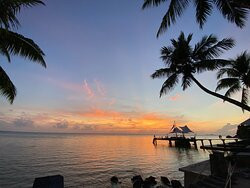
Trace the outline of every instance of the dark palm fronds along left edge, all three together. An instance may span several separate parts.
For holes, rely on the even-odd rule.
[[[16,14],[22,7],[44,4],[39,0],[1,0],[0,1],[0,54],[11,62],[11,55],[28,58],[46,67],[44,53],[31,39],[10,31],[20,25]],[[16,88],[7,73],[0,66],[0,95],[5,96],[12,104],[16,96]]]

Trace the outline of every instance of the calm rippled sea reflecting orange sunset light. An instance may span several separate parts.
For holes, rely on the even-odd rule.
[[[152,136],[0,132],[0,187],[32,187],[35,177],[61,174],[65,187],[122,187],[140,174],[183,181],[178,169],[208,158],[203,150],[177,149]]]

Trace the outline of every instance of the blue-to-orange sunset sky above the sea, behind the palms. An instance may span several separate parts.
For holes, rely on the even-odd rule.
[[[176,121],[208,133],[249,118],[248,112],[195,84],[186,91],[178,86],[159,98],[164,80],[150,75],[163,67],[161,47],[180,31],[193,33],[193,43],[211,33],[219,39],[233,37],[237,45],[223,58],[250,49],[250,21],[239,29],[215,11],[200,30],[191,5],[157,39],[167,5],[142,11],[143,0],[45,3],[21,11],[18,32],[39,44],[47,68],[18,57],[9,64],[1,56],[1,66],[18,93],[13,105],[0,97],[0,130],[154,134],[168,132]],[[215,73],[197,79],[215,89]]]

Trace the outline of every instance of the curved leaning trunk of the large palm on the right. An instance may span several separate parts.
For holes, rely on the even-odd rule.
[[[236,101],[234,99],[231,99],[231,98],[228,98],[228,97],[225,97],[224,95],[221,95],[219,93],[216,93],[216,92],[213,92],[213,91],[210,91],[209,89],[205,88],[203,85],[201,85],[201,83],[196,80],[193,76],[191,76],[191,79],[199,86],[199,88],[201,88],[203,91],[205,91],[206,93],[210,94],[210,95],[213,95],[215,97],[218,97],[224,101],[227,101],[231,104],[234,104],[244,110],[247,110],[247,111],[250,111],[250,106],[247,106],[245,104],[242,104],[241,102],[239,101]]]

